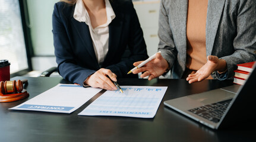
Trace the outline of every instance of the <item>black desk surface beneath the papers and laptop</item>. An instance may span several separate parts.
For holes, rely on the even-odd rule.
[[[232,80],[119,79],[119,85],[168,86],[154,118],[78,116],[101,91],[71,114],[9,110],[52,88],[68,83],[61,78],[28,79],[29,98],[0,103],[0,141],[256,141],[255,123],[245,122],[225,130],[212,130],[163,105],[163,101],[232,85]],[[71,94],[72,95],[72,94]]]

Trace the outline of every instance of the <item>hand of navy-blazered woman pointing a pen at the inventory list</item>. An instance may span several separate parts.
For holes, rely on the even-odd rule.
[[[109,78],[108,78],[109,76]],[[102,88],[106,90],[116,90],[116,86],[113,81],[116,81],[115,73],[112,73],[109,69],[99,69],[93,75],[89,76],[84,83],[90,85],[93,88]],[[112,79],[112,80],[110,80]]]

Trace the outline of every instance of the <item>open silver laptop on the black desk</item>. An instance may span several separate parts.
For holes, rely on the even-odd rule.
[[[244,85],[231,85],[164,101],[166,106],[213,129],[248,121],[256,112],[256,66]]]

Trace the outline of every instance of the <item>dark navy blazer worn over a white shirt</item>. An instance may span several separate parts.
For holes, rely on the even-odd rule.
[[[110,69],[118,78],[138,78],[138,75],[127,75],[134,62],[148,57],[137,14],[129,0],[110,1],[110,4],[116,17],[109,24],[109,51],[102,68]],[[75,5],[64,2],[55,4],[52,33],[59,74],[72,83],[83,85],[100,67],[89,27],[73,18],[74,8]]]

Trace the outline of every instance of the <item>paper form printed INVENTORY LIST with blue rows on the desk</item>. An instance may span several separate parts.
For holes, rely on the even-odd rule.
[[[124,93],[106,91],[78,115],[153,118],[166,86],[121,86]]]

